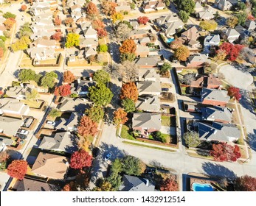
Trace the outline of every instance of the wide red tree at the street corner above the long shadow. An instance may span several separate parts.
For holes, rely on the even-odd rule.
[[[227,143],[212,144],[210,155],[217,161],[233,161],[235,162],[241,157],[239,146],[231,146]]]

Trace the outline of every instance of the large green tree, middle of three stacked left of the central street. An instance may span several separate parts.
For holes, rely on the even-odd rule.
[[[89,88],[89,98],[97,106],[105,107],[111,102],[113,93],[104,84],[97,84]]]

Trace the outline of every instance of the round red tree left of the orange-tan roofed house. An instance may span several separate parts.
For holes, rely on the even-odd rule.
[[[10,177],[23,180],[27,173],[27,166],[28,164],[25,160],[13,160],[7,168],[7,174],[9,174]]]

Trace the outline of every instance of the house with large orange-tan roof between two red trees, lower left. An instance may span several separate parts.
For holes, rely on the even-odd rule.
[[[40,152],[31,168],[31,172],[40,177],[65,180],[69,168],[69,159],[56,154]]]

